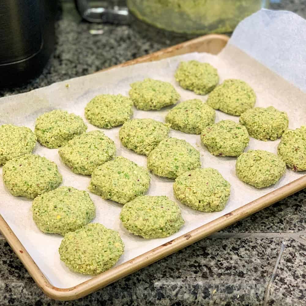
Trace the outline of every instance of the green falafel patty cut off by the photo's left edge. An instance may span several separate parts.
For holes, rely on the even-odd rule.
[[[4,124],[0,126],[0,166],[8,160],[32,153],[36,136],[25,126]]]

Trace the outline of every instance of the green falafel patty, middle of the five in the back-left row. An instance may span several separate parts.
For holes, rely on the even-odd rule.
[[[85,107],[85,117],[98,128],[110,129],[128,121],[133,102],[123,95],[98,95]]]

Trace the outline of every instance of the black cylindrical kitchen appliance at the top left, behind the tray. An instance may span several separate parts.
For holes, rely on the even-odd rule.
[[[0,88],[38,76],[54,48],[56,0],[0,0]]]

